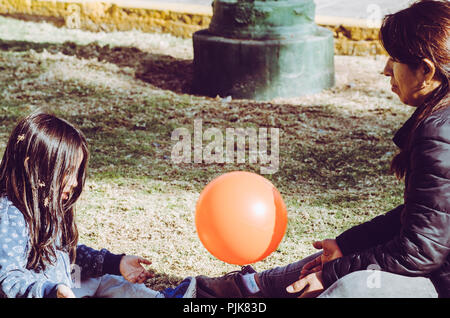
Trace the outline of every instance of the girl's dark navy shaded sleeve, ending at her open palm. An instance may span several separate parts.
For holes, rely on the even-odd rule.
[[[80,267],[81,279],[105,274],[120,275],[120,260],[123,255],[113,254],[104,248],[98,251],[79,244],[75,264]]]

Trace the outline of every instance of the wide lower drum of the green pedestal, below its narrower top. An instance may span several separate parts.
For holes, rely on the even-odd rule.
[[[314,94],[334,86],[331,31],[277,40],[193,35],[193,91],[215,97],[271,100]]]

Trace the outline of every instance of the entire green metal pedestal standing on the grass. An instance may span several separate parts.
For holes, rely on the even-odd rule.
[[[255,100],[313,94],[334,85],[331,31],[311,0],[216,0],[194,34],[193,90]]]

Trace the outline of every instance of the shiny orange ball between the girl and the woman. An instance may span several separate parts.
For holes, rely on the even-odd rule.
[[[287,212],[269,180],[235,171],[215,178],[203,189],[195,224],[200,241],[212,255],[246,265],[275,251],[286,232]]]

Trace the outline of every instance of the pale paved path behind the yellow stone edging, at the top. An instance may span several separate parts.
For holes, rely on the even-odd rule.
[[[212,0],[144,0],[210,6]],[[314,0],[316,15],[353,19],[375,19],[407,7],[414,0]]]

